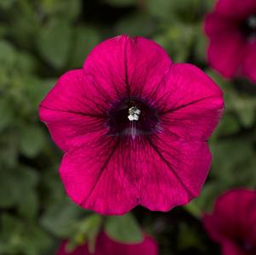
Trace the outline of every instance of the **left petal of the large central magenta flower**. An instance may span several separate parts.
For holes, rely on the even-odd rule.
[[[87,81],[83,70],[60,77],[39,106],[42,122],[62,150],[71,150],[107,133],[104,94]]]

